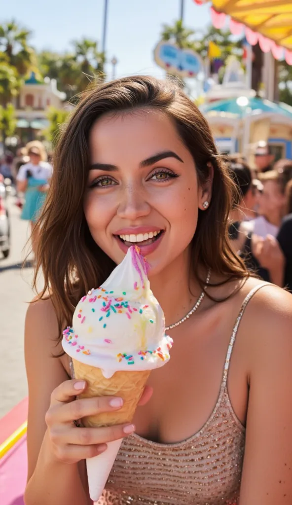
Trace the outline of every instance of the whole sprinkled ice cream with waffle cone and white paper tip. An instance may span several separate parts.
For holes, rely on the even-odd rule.
[[[172,339],[165,335],[163,311],[147,277],[147,263],[131,246],[120,265],[97,289],[79,301],[73,327],[63,332],[63,348],[76,378],[87,381],[80,397],[121,396],[123,407],[83,418],[85,426],[129,423],[152,369],[169,361]],[[103,492],[122,439],[107,443],[86,460],[89,494]]]

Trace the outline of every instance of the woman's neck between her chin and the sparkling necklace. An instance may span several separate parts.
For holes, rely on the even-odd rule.
[[[183,318],[202,292],[199,283],[190,278],[189,264],[189,250],[186,250],[158,275],[150,277],[150,286],[163,309],[166,326]]]

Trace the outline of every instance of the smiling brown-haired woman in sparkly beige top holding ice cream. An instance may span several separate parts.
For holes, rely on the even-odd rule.
[[[95,87],[59,141],[37,224],[45,288],[26,317],[26,505],[91,503],[84,459],[122,437],[99,503],[291,499],[292,298],[233,253],[232,181],[206,120],[171,86],[138,76]],[[133,424],[76,427],[122,399],[76,400],[86,384],[70,379],[61,330],[122,261],[128,233],[152,236],[139,245],[171,360],[151,373]]]

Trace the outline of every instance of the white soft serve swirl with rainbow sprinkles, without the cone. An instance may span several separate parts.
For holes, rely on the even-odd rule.
[[[164,314],[137,246],[129,247],[104,284],[81,298],[73,327],[63,335],[67,354],[102,369],[106,378],[121,370],[151,370],[169,360],[172,339],[165,335]]]

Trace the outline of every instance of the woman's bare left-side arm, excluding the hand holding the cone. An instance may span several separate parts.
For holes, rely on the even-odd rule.
[[[84,462],[67,465],[56,461],[47,435],[45,414],[50,406],[51,393],[68,379],[60,360],[52,358],[52,354],[59,352],[54,342],[57,336],[57,321],[50,300],[30,305],[25,323],[25,361],[29,389],[26,505],[91,503],[86,497]]]

